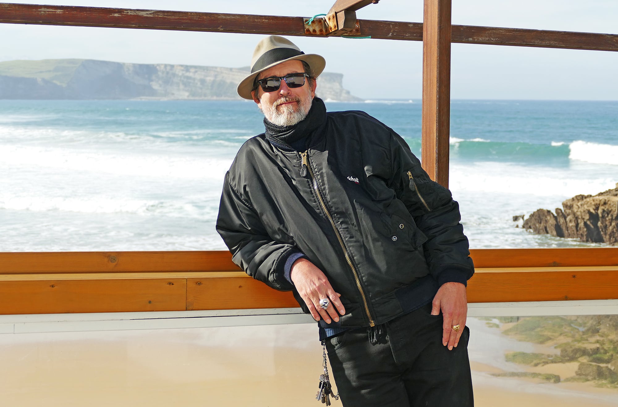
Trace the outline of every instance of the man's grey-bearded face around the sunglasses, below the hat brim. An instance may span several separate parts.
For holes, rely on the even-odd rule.
[[[296,72],[305,72],[300,61],[286,61],[273,66],[258,75],[258,79],[271,76],[285,76]],[[315,96],[315,85],[309,86],[309,80],[305,78],[305,85],[300,88],[287,87],[286,81],[281,80],[281,87],[274,92],[264,92],[258,85],[252,93],[253,100],[266,116],[269,122],[277,126],[293,126],[307,117],[311,108],[311,101]]]

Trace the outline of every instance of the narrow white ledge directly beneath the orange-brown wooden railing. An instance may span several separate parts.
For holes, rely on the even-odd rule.
[[[607,314],[618,314],[617,299],[468,304],[468,317]],[[0,333],[209,328],[292,323],[315,322],[310,315],[303,314],[300,308],[27,314],[0,315]]]

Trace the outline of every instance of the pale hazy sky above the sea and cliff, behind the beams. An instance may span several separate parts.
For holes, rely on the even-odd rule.
[[[4,0],[7,1],[7,0]],[[46,0],[43,4],[311,16],[334,0]],[[618,33],[617,0],[453,0],[464,25]],[[309,6],[307,6],[309,5]],[[422,0],[381,0],[359,19],[422,22]],[[88,58],[137,63],[248,66],[262,35],[0,24],[0,61]],[[326,58],[326,71],[363,98],[420,98],[419,41],[289,37]],[[618,53],[452,45],[452,98],[618,100]],[[318,82],[319,86],[319,82]]]

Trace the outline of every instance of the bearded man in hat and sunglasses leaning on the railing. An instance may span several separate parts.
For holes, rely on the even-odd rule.
[[[258,43],[237,90],[266,131],[226,174],[217,230],[235,263],[318,321],[344,406],[472,406],[457,202],[392,129],[326,112],[325,64],[281,36]]]

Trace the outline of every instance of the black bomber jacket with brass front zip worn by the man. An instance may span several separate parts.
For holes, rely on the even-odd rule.
[[[342,111],[325,113],[310,140],[298,153],[260,134],[237,153],[216,228],[239,267],[294,291],[308,312],[284,278],[286,260],[302,252],[342,294],[337,325],[350,328],[411,311],[448,281],[466,283],[474,266],[459,205],[402,137],[364,112]]]

